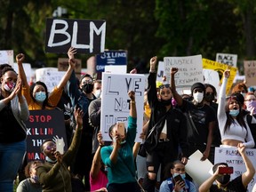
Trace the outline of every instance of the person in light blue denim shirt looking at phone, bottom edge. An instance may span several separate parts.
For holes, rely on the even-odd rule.
[[[175,177],[181,176],[182,180],[176,180]],[[193,182],[186,180],[185,164],[180,160],[169,163],[164,168],[164,180],[160,186],[159,192],[196,192]]]

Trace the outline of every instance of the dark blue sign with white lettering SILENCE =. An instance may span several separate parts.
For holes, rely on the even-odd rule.
[[[127,65],[127,52],[126,51],[108,51],[96,55],[96,71],[104,72],[105,66]]]

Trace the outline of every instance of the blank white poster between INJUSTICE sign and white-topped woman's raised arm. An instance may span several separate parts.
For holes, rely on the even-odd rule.
[[[216,89],[217,98],[219,98],[219,92],[220,92],[219,73],[212,69],[203,68],[203,74],[204,74],[204,84],[212,84],[212,86],[214,86]]]

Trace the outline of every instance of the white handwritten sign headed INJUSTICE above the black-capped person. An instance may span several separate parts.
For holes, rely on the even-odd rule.
[[[170,69],[179,68],[175,75],[175,84],[178,89],[189,89],[196,82],[204,83],[202,55],[188,57],[164,57],[164,74],[170,82]]]

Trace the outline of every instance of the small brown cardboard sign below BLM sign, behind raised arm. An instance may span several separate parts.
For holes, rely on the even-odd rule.
[[[68,70],[68,58],[59,58],[58,59],[58,70],[59,71],[67,71]],[[75,73],[76,77],[80,79],[81,77],[81,69],[82,69],[82,60],[76,59],[76,68]]]

